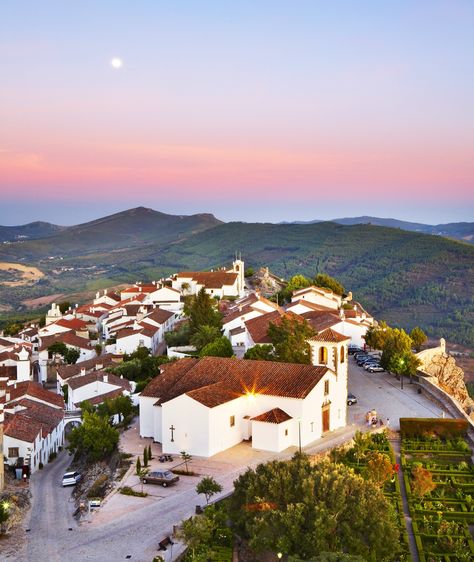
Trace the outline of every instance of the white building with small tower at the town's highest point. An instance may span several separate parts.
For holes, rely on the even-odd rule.
[[[215,271],[182,271],[172,277],[172,287],[183,294],[195,295],[202,288],[213,297],[243,297],[245,294],[244,262],[235,260],[232,269]]]

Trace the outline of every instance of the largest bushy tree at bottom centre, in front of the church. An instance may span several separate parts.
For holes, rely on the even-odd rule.
[[[313,465],[298,455],[249,469],[234,487],[231,519],[257,551],[305,560],[345,552],[382,562],[399,549],[392,506],[377,486],[344,465]],[[251,508],[262,502],[261,510]]]

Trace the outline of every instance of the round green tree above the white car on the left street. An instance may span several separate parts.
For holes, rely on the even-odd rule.
[[[68,450],[98,461],[108,457],[116,449],[118,441],[119,432],[110,426],[107,419],[96,412],[84,412],[82,424],[70,433]]]

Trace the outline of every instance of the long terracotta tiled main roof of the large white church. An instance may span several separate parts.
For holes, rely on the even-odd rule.
[[[302,399],[330,372],[313,365],[222,357],[182,359],[164,367],[163,374],[142,392],[142,396],[159,398],[161,404],[182,394],[205,405],[215,400],[223,403],[249,392]]]

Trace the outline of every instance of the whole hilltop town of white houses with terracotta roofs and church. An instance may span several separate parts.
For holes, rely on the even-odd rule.
[[[374,420],[377,427],[398,429],[403,416],[461,417],[472,431],[473,403],[444,340],[412,354],[413,371],[396,373],[372,343],[389,328],[326,277],[320,284],[298,276],[287,283],[265,268],[246,272],[236,258],[229,268],[101,290],[80,306],[53,303],[40,323],[2,335],[0,490],[5,483],[7,490],[28,488],[35,474],[36,482],[60,478],[54,468],[41,471],[67,469],[71,430],[100,408],[109,408],[110,423],[121,427],[120,447],[133,466],[125,465],[121,476],[100,469],[107,485],[99,494],[106,501],[94,515],[97,524],[111,514],[125,516],[130,506],[114,493],[124,482],[135,492],[140,480],[146,482],[138,465],[133,473],[145,449],[145,467],[154,456],[182,470],[182,458],[187,473],[194,459],[200,474],[220,477],[228,489],[236,469],[274,455],[328,450],[367,430],[367,423],[372,428]],[[351,356],[362,358],[366,370]],[[145,361],[151,361],[146,373]],[[131,409],[112,411],[124,397]],[[121,425],[123,417],[133,419],[133,409],[133,427]],[[84,468],[76,453],[73,467]],[[49,478],[48,485],[57,485]],[[100,478],[95,473],[89,488],[81,488],[79,518],[90,517],[83,501]],[[34,513],[34,489],[32,501]],[[48,517],[54,523],[55,516]],[[160,536],[179,523],[172,517],[173,510],[156,530]]]

